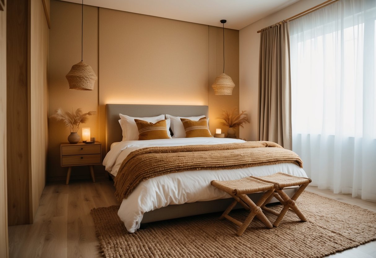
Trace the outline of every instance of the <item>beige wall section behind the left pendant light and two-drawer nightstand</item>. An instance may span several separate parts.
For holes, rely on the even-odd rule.
[[[87,123],[80,127],[90,127],[91,137],[99,137],[98,82],[92,91],[69,90],[65,75],[72,65],[81,61],[81,5],[63,1],[51,1],[51,29],[49,48],[49,116],[62,108],[66,111],[96,111],[89,116]],[[84,5],[83,8],[83,61],[89,64],[94,72],[98,70],[98,8]],[[78,134],[82,135],[82,129]],[[67,176],[67,169],[60,167],[60,143],[67,143],[69,128],[61,121],[49,118],[49,153],[48,180],[62,180]],[[98,176],[99,166],[96,168]],[[103,171],[103,170],[102,170]],[[103,172],[101,173],[103,175]],[[89,168],[73,167],[71,179],[89,178]]]

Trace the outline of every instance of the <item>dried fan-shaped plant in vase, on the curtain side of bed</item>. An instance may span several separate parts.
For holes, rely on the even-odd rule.
[[[244,127],[243,124],[250,123],[246,112],[247,111],[241,111],[241,113],[239,113],[237,108],[233,108],[230,112],[222,110],[222,117],[218,117],[218,119],[222,125],[229,127],[227,130],[228,138],[236,138],[234,128],[238,126]]]

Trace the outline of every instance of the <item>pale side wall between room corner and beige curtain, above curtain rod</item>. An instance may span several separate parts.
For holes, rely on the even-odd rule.
[[[301,0],[293,5],[271,14],[239,31],[239,77],[241,110],[247,110],[250,115],[250,124],[240,129],[240,137],[249,141],[258,140],[257,137],[257,110],[258,110],[258,70],[260,33],[258,30],[296,15],[306,9],[322,3],[322,0]]]

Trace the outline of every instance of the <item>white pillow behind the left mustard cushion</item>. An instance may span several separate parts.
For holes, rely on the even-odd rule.
[[[121,130],[123,131],[123,141],[138,140],[138,129],[135,119],[148,121],[150,123],[156,123],[165,119],[164,115],[158,115],[156,117],[130,117],[129,115],[119,114],[119,116],[119,124],[121,126]],[[166,120],[167,135],[171,138],[170,122],[170,119]]]

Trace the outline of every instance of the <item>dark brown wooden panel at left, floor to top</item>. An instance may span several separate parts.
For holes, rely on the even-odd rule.
[[[28,1],[7,6],[8,224],[29,223],[29,130],[27,99]],[[10,58],[11,57],[11,58]]]

